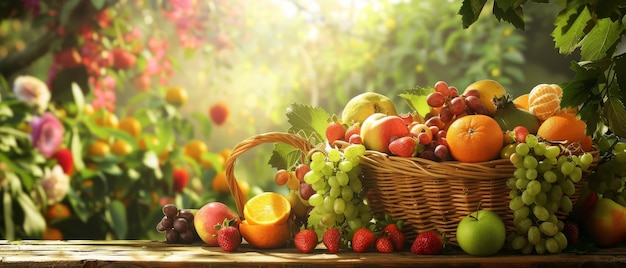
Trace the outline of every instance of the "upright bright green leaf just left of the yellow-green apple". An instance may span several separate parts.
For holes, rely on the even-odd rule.
[[[326,126],[330,115],[322,108],[313,108],[304,104],[294,103],[287,108],[287,122],[291,124],[290,133],[303,132],[306,137],[315,141],[313,144],[325,140]]]

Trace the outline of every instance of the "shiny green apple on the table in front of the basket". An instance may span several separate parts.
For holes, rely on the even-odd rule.
[[[475,256],[490,256],[504,246],[506,228],[504,222],[493,211],[478,210],[459,222],[456,241],[465,253]]]

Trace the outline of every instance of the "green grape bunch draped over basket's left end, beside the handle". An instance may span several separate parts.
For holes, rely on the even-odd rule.
[[[352,233],[372,221],[361,182],[359,161],[364,154],[365,146],[350,144],[343,152],[331,148],[326,154],[318,151],[311,155],[311,170],[304,181],[315,193],[309,197],[313,209],[307,226],[318,235],[333,227]]]

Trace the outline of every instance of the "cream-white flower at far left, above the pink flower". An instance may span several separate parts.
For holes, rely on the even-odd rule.
[[[39,113],[43,113],[50,102],[48,86],[34,76],[18,76],[13,82],[13,94]]]

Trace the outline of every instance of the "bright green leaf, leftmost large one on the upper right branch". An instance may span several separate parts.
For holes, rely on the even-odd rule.
[[[571,21],[570,16],[575,16],[576,19]],[[552,36],[556,48],[559,49],[559,53],[569,55],[578,47],[579,41],[585,35],[585,28],[591,21],[591,13],[585,6],[580,13],[567,12],[563,16],[560,14],[557,16],[557,24]]]

